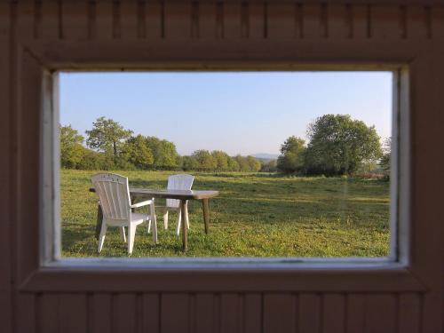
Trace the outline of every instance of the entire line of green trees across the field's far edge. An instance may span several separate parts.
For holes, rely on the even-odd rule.
[[[322,115],[308,125],[305,140],[291,136],[281,145],[277,160],[230,156],[204,149],[178,155],[173,142],[133,135],[120,123],[99,117],[85,139],[70,125],[60,125],[61,166],[81,170],[198,170],[266,171],[298,175],[353,175],[390,171],[390,139],[382,147],[374,126],[350,115]]]

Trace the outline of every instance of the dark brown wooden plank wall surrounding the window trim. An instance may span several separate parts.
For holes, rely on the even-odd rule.
[[[21,234],[38,220],[22,198],[17,171],[29,96],[20,94],[19,45],[146,45],[147,59],[316,59],[358,62],[412,59],[412,262],[424,290],[220,288],[23,290],[20,265],[36,248]],[[421,1],[106,1],[36,0],[0,3],[0,322],[2,332],[444,332],[442,132],[444,6]],[[57,46],[57,47],[56,47]],[[60,47],[61,47],[60,46]],[[152,47],[150,49],[150,47]],[[338,51],[343,49],[345,51]],[[176,54],[170,54],[174,50]],[[252,50],[250,52],[250,50]],[[352,50],[348,56],[346,50]],[[125,50],[120,50],[125,59]],[[274,54],[274,52],[276,52]],[[49,52],[47,52],[49,53]],[[40,54],[46,54],[41,52]],[[85,53],[88,56],[88,53]],[[48,55],[48,54],[46,54]],[[420,60],[416,59],[420,55]],[[139,59],[143,60],[144,55]],[[131,58],[130,55],[128,55]],[[262,58],[261,58],[262,57]],[[78,61],[87,61],[84,54]],[[100,62],[99,59],[93,59]],[[324,62],[327,62],[324,61]],[[73,65],[75,66],[75,64]],[[22,68],[21,68],[22,69]],[[20,96],[20,98],[19,98]],[[32,99],[31,99],[32,100]],[[28,101],[29,102],[29,101]],[[37,133],[38,134],[38,133]],[[36,139],[36,138],[35,138]],[[28,166],[38,168],[30,153]],[[25,156],[25,157],[24,157]],[[34,156],[34,157],[33,157]],[[34,158],[34,159],[33,159]],[[28,225],[27,225],[28,223]],[[38,237],[36,235],[36,237]],[[415,250],[415,249],[420,250]],[[320,274],[323,274],[320,272]],[[85,274],[87,279],[87,274]],[[196,277],[197,278],[197,277]],[[332,279],[340,280],[340,276]],[[362,277],[366,279],[366,277]],[[25,279],[26,280],[26,279]],[[122,281],[122,283],[131,281]],[[205,283],[205,281],[202,281]]]

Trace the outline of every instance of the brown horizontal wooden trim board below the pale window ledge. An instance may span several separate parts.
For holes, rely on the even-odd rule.
[[[101,264],[103,266],[103,263]],[[424,291],[407,270],[107,271],[46,269],[20,286],[24,291]],[[181,283],[178,283],[180,276]],[[205,283],[201,283],[201,279]],[[82,285],[75,281],[82,280]],[[122,284],[120,281],[131,281]]]

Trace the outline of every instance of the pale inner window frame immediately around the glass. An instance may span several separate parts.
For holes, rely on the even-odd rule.
[[[406,64],[386,66],[328,64],[289,64],[288,71],[390,71],[392,72],[392,161],[391,161],[391,208],[390,253],[385,258],[61,258],[61,218],[59,199],[59,68],[46,72],[43,84],[42,159],[42,210],[41,265],[77,269],[305,269],[305,268],[400,268],[408,266],[409,253],[409,206],[410,206],[410,155],[409,155],[409,79]],[[89,70],[96,68],[89,67]],[[115,68],[122,70],[125,68]],[[162,69],[158,68],[157,70]],[[189,68],[183,68],[189,70]],[[201,67],[193,68],[202,71]],[[232,70],[227,66],[222,70]],[[236,70],[245,70],[235,67]],[[269,70],[261,66],[248,70]],[[206,71],[220,71],[217,67],[205,67]],[[84,71],[84,70],[83,70]]]

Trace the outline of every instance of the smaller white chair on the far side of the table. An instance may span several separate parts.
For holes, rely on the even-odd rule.
[[[194,182],[194,176],[192,175],[186,175],[186,174],[180,174],[180,175],[173,175],[168,178],[168,186],[167,188],[169,190],[191,190],[191,187],[193,186]],[[163,210],[163,224],[165,226],[165,229],[168,229],[168,212],[169,211],[176,211],[178,214],[178,223],[176,226],[176,234],[178,235],[180,233],[180,223],[181,223],[181,211],[179,207],[179,200],[176,199],[167,199],[166,200],[166,206],[159,207],[161,210]],[[190,221],[188,218],[188,202],[186,202],[186,210],[185,210],[185,218],[186,218],[186,227],[189,229],[190,227]]]

